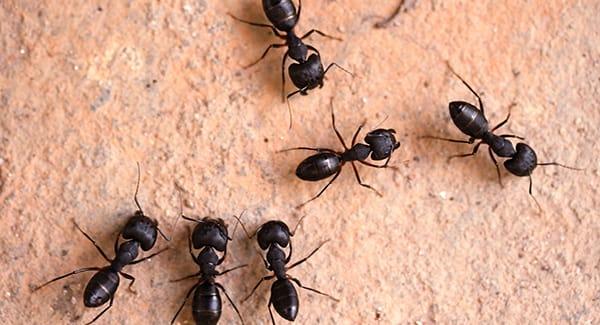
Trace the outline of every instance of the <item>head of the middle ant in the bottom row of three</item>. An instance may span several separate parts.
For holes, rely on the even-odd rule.
[[[220,218],[203,218],[198,221],[192,233],[192,243],[196,249],[208,246],[223,252],[227,249],[228,240],[230,238],[227,234],[227,226]]]

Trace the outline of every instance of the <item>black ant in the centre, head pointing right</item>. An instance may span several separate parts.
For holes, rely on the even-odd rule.
[[[342,167],[345,163],[350,162],[352,165],[352,169],[354,169],[354,175],[356,176],[356,180],[360,186],[366,187],[377,195],[382,196],[379,191],[373,188],[371,185],[365,184],[360,179],[360,175],[358,174],[358,169],[354,162],[358,162],[360,164],[375,167],[375,168],[393,168],[396,167],[388,166],[390,159],[392,158],[392,153],[394,150],[400,147],[400,142],[396,140],[394,134],[396,134],[396,130],[394,129],[375,129],[371,132],[368,132],[365,136],[365,142],[356,143],[356,138],[358,137],[359,132],[365,126],[365,122],[363,122],[352,137],[352,143],[350,148],[346,146],[344,139],[342,138],[340,132],[337,130],[335,126],[335,114],[333,112],[333,99],[331,100],[331,124],[333,125],[333,130],[337,135],[337,138],[342,143],[344,147],[343,152],[335,151],[328,148],[310,148],[310,147],[296,147],[290,149],[284,149],[279,152],[286,152],[292,150],[311,150],[317,151],[316,154],[304,159],[296,168],[296,176],[304,181],[316,182],[333,175],[333,178],[321,189],[321,191],[311,198],[310,200],[300,204],[297,208],[304,206],[305,204],[316,200],[325,190],[331,185],[336,178],[340,175],[342,171]],[[365,161],[367,158],[371,156],[372,160],[385,160],[383,165],[376,165]]]

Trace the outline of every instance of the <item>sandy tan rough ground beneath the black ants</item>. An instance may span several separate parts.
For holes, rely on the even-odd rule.
[[[3,324],[84,323],[90,274],[35,294],[73,269],[104,264],[76,220],[107,251],[139,198],[175,240],[150,262],[127,268],[99,324],[165,324],[193,284],[169,279],[196,270],[186,251],[186,214],[223,217],[246,210],[255,228],[295,224],[295,256],[331,239],[291,274],[339,297],[300,291],[299,324],[600,323],[600,2],[418,1],[390,25],[377,17],[396,1],[305,0],[299,32],[314,36],[332,70],[323,89],[292,100],[288,131],[280,101],[283,51],[243,70],[276,39],[226,16],[265,21],[259,1],[57,1],[0,3],[0,320]],[[492,124],[515,102],[506,132],[527,137],[540,160],[528,181],[496,181],[483,148],[446,162],[466,145],[417,139],[459,137],[447,103],[474,97],[445,60],[483,94]],[[288,87],[291,91],[291,86]],[[367,119],[398,130],[398,172],[360,168],[384,193],[357,186],[345,170],[325,195],[294,206],[324,183],[293,175],[298,146],[339,148],[330,128],[334,97],[349,139]],[[348,140],[349,141],[349,140]],[[407,161],[407,162],[404,162]],[[159,240],[157,248],[167,243]],[[266,274],[254,242],[240,231],[219,279],[239,302]],[[125,282],[123,282],[125,284]],[[239,306],[248,324],[268,324],[268,286]],[[277,318],[279,323],[284,323]],[[181,323],[191,323],[185,309]],[[222,323],[236,323],[225,303]]]

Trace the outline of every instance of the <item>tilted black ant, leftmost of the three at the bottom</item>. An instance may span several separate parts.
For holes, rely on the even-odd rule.
[[[85,267],[73,272],[61,275],[56,277],[42,285],[37,286],[33,291],[37,291],[50,283],[55,281],[64,279],[66,277],[83,273],[89,271],[96,271],[96,274],[92,276],[89,280],[88,284],[85,287],[83,292],[83,303],[86,307],[100,307],[104,305],[107,301],[109,301],[108,307],[102,310],[92,321],[87,324],[92,324],[95,322],[100,316],[102,316],[105,312],[107,312],[113,305],[114,296],[117,292],[117,288],[119,287],[120,278],[119,275],[123,276],[127,280],[129,280],[128,289],[132,292],[135,292],[132,289],[133,283],[135,282],[135,278],[132,275],[129,275],[123,272],[123,268],[127,265],[134,265],[145,260],[148,260],[168,249],[164,248],[156,253],[153,253],[144,258],[140,258],[136,260],[138,256],[138,250],[141,248],[143,251],[148,251],[154,247],[156,242],[157,234],[160,234],[165,240],[170,241],[163,234],[163,232],[158,228],[158,222],[156,220],[150,219],[148,216],[144,214],[140,203],[137,199],[138,189],[140,186],[140,165],[138,163],[138,181],[137,186],[135,188],[134,201],[138,207],[138,210],[129,218],[125,227],[121,232],[117,235],[117,239],[115,240],[114,250],[115,250],[115,258],[110,259],[104,253],[102,248],[96,243],[92,237],[90,237],[85,231],[83,231],[76,222],[75,227],[96,247],[100,255],[104,257],[104,259],[109,263],[108,266],[105,267]],[[123,237],[126,241],[119,244],[119,238]]]

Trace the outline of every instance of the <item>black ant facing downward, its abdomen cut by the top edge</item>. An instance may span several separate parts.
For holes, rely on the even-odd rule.
[[[337,63],[330,63],[327,68],[323,68],[323,64],[321,62],[321,54],[319,51],[311,45],[305,44],[302,40],[309,37],[313,33],[317,33],[323,37],[331,38],[337,41],[342,41],[341,38],[327,35],[320,30],[311,29],[306,34],[298,37],[294,32],[294,28],[300,20],[300,13],[302,11],[302,1],[298,2],[298,11],[296,11],[296,7],[294,6],[294,2],[292,0],[263,0],[263,10],[265,15],[271,22],[271,25],[255,23],[247,20],[240,19],[238,17],[229,14],[233,19],[240,21],[242,23],[249,24],[251,26],[256,27],[266,27],[270,28],[273,34],[280,39],[285,40],[283,44],[271,44],[267,49],[263,52],[261,57],[245,66],[244,69],[250,68],[260,62],[265,58],[267,53],[272,48],[281,48],[287,47],[287,51],[283,55],[283,61],[281,64],[281,99],[285,101],[287,99],[288,102],[288,110],[290,113],[290,128],[291,128],[291,107],[289,106],[289,99],[296,95],[308,95],[308,90],[314,88],[322,88],[323,87],[323,79],[325,75],[332,67],[338,67],[346,73],[352,75],[351,72],[347,71]],[[309,50],[314,52],[308,56]],[[288,67],[288,74],[294,86],[296,86],[297,90],[285,95],[285,62],[287,57],[292,58],[292,60],[296,61],[292,63]],[[308,58],[307,58],[308,56]]]

